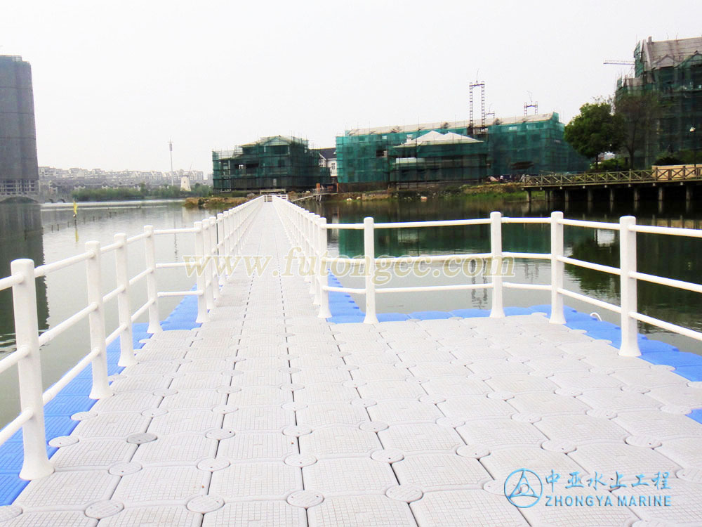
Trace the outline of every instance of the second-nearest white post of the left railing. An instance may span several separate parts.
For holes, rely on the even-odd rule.
[[[91,399],[110,397],[112,390],[107,381],[107,350],[105,349],[105,306],[102,305],[102,274],[100,270],[100,242],[87,242],[86,251],[93,256],[86,260],[86,275],[88,276],[88,305],[95,304],[95,309],[88,313],[90,327],[91,351],[98,350],[93,358],[93,389]]]

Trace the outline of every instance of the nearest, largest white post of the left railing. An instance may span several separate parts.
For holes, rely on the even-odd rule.
[[[18,350],[27,350],[27,355],[17,363],[20,379],[20,410],[32,413],[32,417],[22,426],[25,456],[20,478],[38,479],[51,474],[53,466],[46,455],[44,386],[41,384],[37,282],[34,278],[34,261],[29,259],[14,260],[10,264],[10,268],[13,276],[22,278],[22,282],[12,286],[15,341]]]

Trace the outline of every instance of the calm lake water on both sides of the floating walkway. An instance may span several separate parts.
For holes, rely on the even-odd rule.
[[[374,216],[376,221],[413,221],[432,219],[482,218],[492,210],[501,210],[508,216],[544,216],[550,213],[545,204],[531,208],[522,204],[501,202],[465,202],[452,200],[429,200],[428,202],[342,202],[307,204],[319,214],[324,214],[333,223],[362,221],[364,216]],[[640,223],[661,226],[700,228],[702,214],[693,212],[680,214],[674,204],[668,212],[658,214],[656,204],[642,203],[636,216]],[[586,209],[571,204],[564,211],[567,217],[616,221],[619,216],[632,214],[627,208]],[[190,227],[206,215],[203,211],[184,209],[179,203],[129,202],[125,204],[97,203],[81,204],[79,219],[73,220],[69,205],[0,204],[0,276],[10,272],[10,261],[16,258],[32,258],[36,265],[72,256],[84,250],[85,242],[99,240],[103,244],[113,241],[114,233],[133,235],[143,226],[152,224],[156,228]],[[489,228],[466,226],[430,229],[393,229],[376,233],[376,254],[441,254],[486,252],[489,250]],[[618,240],[604,230],[567,227],[566,252],[578,259],[618,266]],[[505,251],[548,252],[548,226],[504,226],[503,247]],[[130,246],[129,266],[131,275],[145,266],[143,242]],[[158,261],[181,260],[192,254],[192,235],[164,235],[157,237]],[[355,256],[363,252],[360,231],[332,231],[329,238],[330,251],[336,254]],[[676,237],[639,235],[639,270],[644,273],[678,278],[691,282],[702,282],[702,240],[684,240]],[[52,273],[37,280],[39,325],[46,330],[67,316],[86,306],[84,264]],[[550,266],[548,261],[517,261],[517,282],[548,283]],[[159,290],[189,289],[194,278],[187,278],[182,269],[158,272]],[[102,261],[103,292],[114,287],[114,259],[110,254]],[[79,280],[74,277],[78,276]],[[347,277],[345,285],[359,284],[362,279]],[[423,279],[408,277],[393,279],[388,287],[398,285],[428,285],[430,283],[457,283],[459,278]],[[488,281],[481,275],[463,278],[471,282]],[[512,280],[512,279],[510,279]],[[567,266],[567,287],[576,292],[589,294],[599,299],[618,304],[618,280],[597,271]],[[640,311],[663,320],[702,330],[702,295],[677,291],[654,285],[640,284]],[[131,292],[132,309],[145,301],[143,288],[135,287]],[[178,298],[159,300],[161,319],[166,318]],[[362,305],[362,298],[357,299]],[[489,308],[490,294],[482,290],[470,292],[441,292],[432,294],[385,294],[378,295],[379,312],[402,312],[441,310],[456,308]],[[524,292],[505,289],[505,306],[532,306],[547,304],[549,295],[544,292]],[[579,311],[590,313],[592,306],[568,301]],[[616,323],[613,313],[597,310],[602,318]],[[107,333],[117,327],[116,302],[106,306]],[[141,321],[145,321],[141,320]],[[651,328],[643,327],[649,331]],[[654,332],[651,337],[668,341],[686,351],[702,353],[696,341],[673,334]],[[13,320],[11,294],[0,292],[0,358],[13,349]],[[83,357],[89,348],[87,321],[58,337],[42,348],[44,384],[49,386]],[[0,376],[0,422],[6,422],[18,411],[16,370],[12,368]]]

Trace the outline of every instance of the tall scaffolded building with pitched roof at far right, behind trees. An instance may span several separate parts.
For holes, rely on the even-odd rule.
[[[702,141],[702,37],[663,40],[651,37],[634,50],[633,76],[617,82],[615,99],[628,93],[656,93],[661,103],[635,166],[651,166],[661,155],[695,152]]]

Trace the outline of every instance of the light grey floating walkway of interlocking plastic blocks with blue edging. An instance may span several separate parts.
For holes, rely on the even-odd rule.
[[[74,429],[47,433],[51,459],[28,462],[25,437],[32,481],[12,495],[4,474],[0,526],[702,525],[702,368],[676,359],[689,354],[661,363],[639,337],[643,354],[623,356],[597,321],[565,308],[569,324],[550,323],[550,306],[333,323],[320,307],[353,306],[333,277],[284,272],[293,245],[321,244],[309,213],[272,199],[211,246],[272,256],[267,271],[204,273],[162,330],[129,328],[131,356],[123,328],[96,402],[90,368],[74,379],[84,403],[63,400]],[[5,465],[21,464],[18,434]]]

